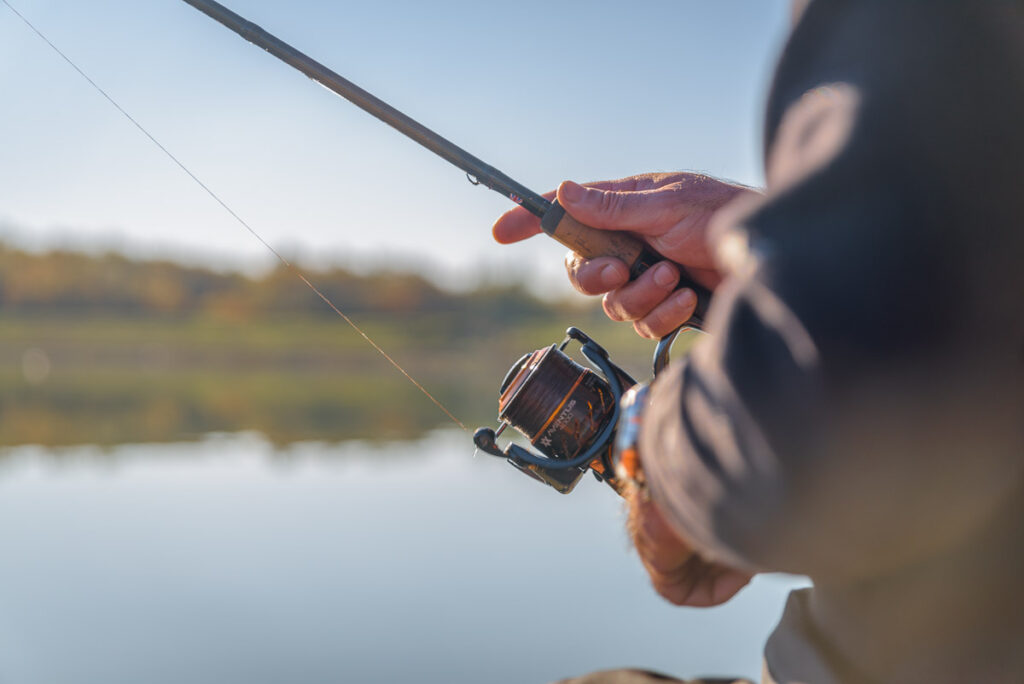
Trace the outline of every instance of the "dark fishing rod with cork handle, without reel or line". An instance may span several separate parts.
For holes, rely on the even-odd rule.
[[[213,0],[183,1],[462,169],[473,184],[489,187],[540,217],[542,230],[577,254],[588,259],[596,257],[621,259],[629,266],[630,280],[636,280],[645,270],[663,260],[659,254],[628,233],[599,230],[577,221],[565,212],[557,200],[553,202],[546,200],[222,4]],[[696,308],[686,326],[701,330],[711,303],[711,291],[698,285],[685,272],[681,273],[678,287],[689,288],[696,294]]]

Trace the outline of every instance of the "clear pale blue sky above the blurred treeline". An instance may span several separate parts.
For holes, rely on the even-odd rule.
[[[270,245],[312,264],[560,291],[511,203],[180,0],[8,0]],[[537,191],[762,183],[786,0],[226,0]],[[272,255],[0,5],[0,240],[259,269]]]

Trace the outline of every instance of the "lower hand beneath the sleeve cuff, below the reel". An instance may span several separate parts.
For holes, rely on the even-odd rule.
[[[629,530],[651,585],[676,605],[703,608],[725,603],[752,574],[701,558],[680,539],[652,501],[629,498]]]

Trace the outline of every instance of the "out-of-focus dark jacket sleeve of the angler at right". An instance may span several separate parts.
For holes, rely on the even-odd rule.
[[[805,22],[837,19],[815,4]],[[843,32],[817,55],[830,67],[776,82],[792,94],[768,194],[725,230],[720,244],[745,252],[716,291],[709,336],[654,383],[640,441],[654,501],[703,555],[816,580],[964,539],[1017,486],[1024,455],[1013,352],[1024,279],[1012,265],[1024,209],[992,170],[1024,177],[1013,159],[1024,146],[1011,117],[986,114],[1008,105],[1006,83],[942,56],[943,36],[983,33],[964,17],[861,14],[838,17]],[[932,31],[930,47],[906,44],[908,27]],[[809,49],[811,29],[791,52]],[[874,65],[849,56],[867,31]],[[898,78],[890,43],[910,51]],[[929,71],[946,68],[940,88]],[[949,101],[950,84],[970,105]],[[1024,112],[1015,87],[1009,106]],[[1002,127],[990,132],[1009,148],[975,139],[979,125]],[[966,173],[978,174],[969,187]],[[982,215],[1001,221],[986,226],[990,259],[969,247]],[[982,281],[1006,296],[979,303]]]

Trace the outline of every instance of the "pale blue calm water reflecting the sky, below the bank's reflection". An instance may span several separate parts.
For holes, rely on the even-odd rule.
[[[468,444],[0,451],[0,682],[758,675],[797,580],[672,607],[604,485],[562,497]]]

